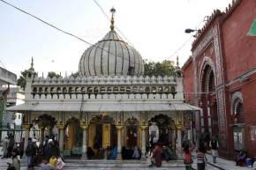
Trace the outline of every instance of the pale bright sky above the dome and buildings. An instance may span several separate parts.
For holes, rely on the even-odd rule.
[[[109,20],[94,0],[6,0],[49,23],[95,43],[109,32]],[[180,57],[182,65],[191,55],[192,34],[185,28],[204,25],[215,9],[223,11],[231,0],[97,0],[110,16],[115,7],[115,25],[143,59],[162,61]],[[118,31],[117,31],[118,33]],[[127,41],[122,33],[118,33]],[[189,41],[188,41],[189,40]],[[184,42],[187,43],[181,48]],[[34,57],[36,71],[78,70],[86,43],[0,2],[0,60],[19,75]],[[177,49],[181,48],[177,51]],[[3,67],[3,64],[0,66]]]

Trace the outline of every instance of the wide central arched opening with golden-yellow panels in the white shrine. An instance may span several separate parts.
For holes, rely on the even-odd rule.
[[[117,146],[117,129],[115,122],[109,115],[95,115],[89,124],[89,147],[96,155],[96,159],[103,159],[103,149]]]

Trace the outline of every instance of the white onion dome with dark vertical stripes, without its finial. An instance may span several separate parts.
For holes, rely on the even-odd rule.
[[[124,42],[113,29],[84,52],[79,61],[79,75],[140,76],[144,65],[139,52]]]

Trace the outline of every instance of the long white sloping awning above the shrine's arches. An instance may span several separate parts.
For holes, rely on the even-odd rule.
[[[149,103],[149,102],[84,102],[81,103],[37,103],[34,105],[22,104],[7,107],[8,111],[15,112],[140,112],[140,111],[200,111],[200,107],[194,107],[186,103]]]

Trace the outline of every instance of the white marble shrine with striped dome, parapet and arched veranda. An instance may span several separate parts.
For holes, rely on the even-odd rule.
[[[121,159],[123,146],[138,146],[143,157],[153,137],[179,156],[182,141],[192,139],[200,108],[184,103],[181,70],[143,76],[142,57],[117,34],[113,14],[109,33],[81,56],[78,77],[39,78],[33,63],[27,72],[25,104],[7,108],[24,114],[25,148],[35,125],[39,140],[54,135],[65,155],[117,146]]]

